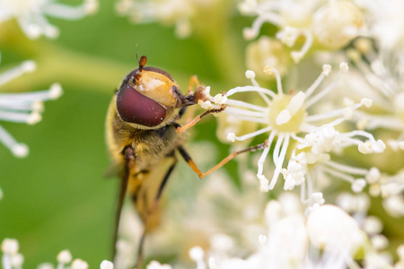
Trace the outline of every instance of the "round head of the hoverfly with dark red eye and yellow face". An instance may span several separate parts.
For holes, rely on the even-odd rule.
[[[119,117],[129,126],[155,129],[166,126],[180,108],[178,85],[169,74],[154,67],[132,71],[117,93]]]

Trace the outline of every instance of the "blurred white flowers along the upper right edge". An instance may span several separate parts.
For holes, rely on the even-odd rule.
[[[348,50],[347,56],[359,72],[351,74],[347,82],[358,94],[372,96],[376,108],[380,109],[377,114],[356,111],[355,118],[364,129],[384,128],[399,133],[387,144],[394,151],[403,150],[404,35],[400,25],[404,25],[404,20],[400,13],[404,4],[378,0],[362,4],[370,25],[367,35],[375,39],[375,46],[370,39],[357,39],[356,49]]]

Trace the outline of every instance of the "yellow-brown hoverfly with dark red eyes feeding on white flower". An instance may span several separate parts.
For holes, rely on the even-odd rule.
[[[145,227],[138,244],[136,268],[142,263],[145,234],[153,230],[156,224],[156,207],[177,163],[176,152],[199,178],[241,153],[233,152],[213,169],[202,173],[183,148],[184,136],[180,133],[195,125],[200,118],[220,112],[225,107],[206,110],[188,125],[180,126],[177,120],[185,108],[197,104],[198,100],[206,100],[205,87],[193,76],[189,91],[183,95],[170,74],[145,66],[146,62],[146,56],[141,56],[138,68],[123,79],[119,91],[110,102],[106,122],[110,156],[121,177],[114,243],[118,239],[119,217],[126,195],[130,196]],[[197,85],[195,93],[192,91],[194,84]],[[263,146],[260,144],[242,152]]]

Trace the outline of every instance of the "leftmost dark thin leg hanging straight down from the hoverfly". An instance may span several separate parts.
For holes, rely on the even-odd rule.
[[[127,181],[129,179],[129,172],[130,169],[132,168],[134,161],[135,161],[135,154],[133,149],[129,146],[124,150],[124,155],[125,155],[125,171],[122,176],[121,184],[120,184],[120,189],[119,189],[119,200],[118,200],[118,208],[117,208],[117,214],[115,216],[115,230],[114,230],[114,239],[113,239],[113,246],[112,246],[112,258],[116,255],[117,249],[117,240],[118,240],[118,228],[119,228],[119,219],[120,219],[120,213],[122,212],[122,206],[125,200],[125,195],[127,193]]]

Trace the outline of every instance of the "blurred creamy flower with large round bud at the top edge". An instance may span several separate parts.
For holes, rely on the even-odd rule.
[[[342,48],[356,38],[363,24],[362,13],[348,1],[245,0],[239,10],[244,15],[257,16],[252,26],[244,29],[245,39],[256,38],[265,22],[279,28],[277,39],[287,47],[294,47],[303,37],[302,48],[291,53],[296,63],[313,42],[323,48]]]

